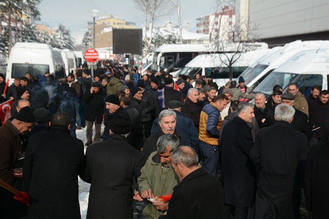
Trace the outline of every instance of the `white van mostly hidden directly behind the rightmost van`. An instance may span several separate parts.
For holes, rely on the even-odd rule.
[[[309,49],[328,48],[329,41],[301,41],[297,40],[291,43],[287,43],[280,50],[267,56],[261,61],[258,61],[257,65],[250,71],[244,74],[245,84],[253,90],[262,82],[274,69],[283,64],[293,55]]]

